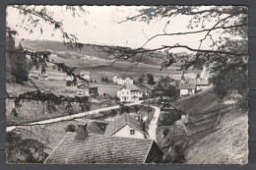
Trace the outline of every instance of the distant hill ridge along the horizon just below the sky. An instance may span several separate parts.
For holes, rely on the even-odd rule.
[[[110,60],[113,59],[113,56],[105,53],[105,52],[99,52],[100,46],[96,44],[84,44],[84,47],[79,49],[68,49],[66,46],[64,46],[63,42],[60,41],[48,41],[48,40],[29,40],[25,39],[22,41],[22,45],[24,48],[30,49],[30,50],[47,50],[52,52],[53,54],[57,54],[59,57],[62,58],[70,58],[72,57],[71,54],[76,57],[84,57],[84,56],[91,56],[101,59]],[[177,55],[185,55],[185,52],[178,53]],[[156,54],[145,54],[146,57],[141,58],[141,56],[134,56],[131,59],[128,59],[128,62],[138,62],[145,64],[151,64],[151,65],[158,65],[160,66],[161,63],[164,61],[164,54],[163,53],[156,53]],[[174,66],[175,67],[175,66]]]

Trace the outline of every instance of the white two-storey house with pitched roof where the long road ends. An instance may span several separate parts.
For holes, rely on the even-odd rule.
[[[140,88],[136,85],[123,85],[117,91],[117,97],[123,101],[138,101],[140,97]]]

